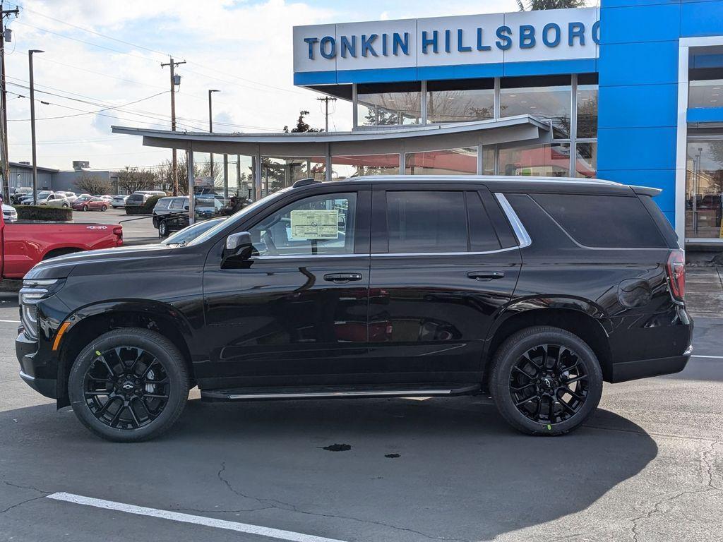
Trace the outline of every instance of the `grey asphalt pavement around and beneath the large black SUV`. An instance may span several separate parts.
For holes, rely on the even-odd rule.
[[[2,541],[723,539],[722,319],[696,321],[683,373],[606,385],[568,436],[517,434],[484,398],[194,394],[142,444],[95,438],[21,382],[16,321],[0,294]]]

